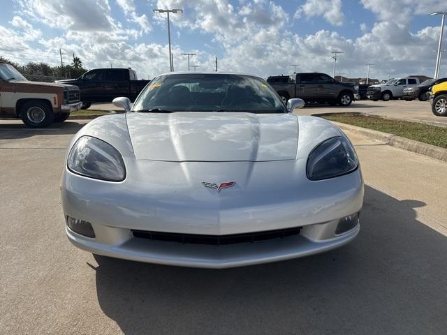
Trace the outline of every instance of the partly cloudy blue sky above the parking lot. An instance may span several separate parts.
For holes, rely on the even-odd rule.
[[[0,55],[26,63],[87,68],[131,67],[141,79],[169,71],[166,14],[175,70],[267,77],[319,71],[332,75],[331,50],[342,51],[335,75],[386,79],[432,77],[445,0],[0,0]],[[444,47],[447,50],[447,28]],[[444,48],[443,47],[443,48]],[[447,54],[441,60],[447,76]]]

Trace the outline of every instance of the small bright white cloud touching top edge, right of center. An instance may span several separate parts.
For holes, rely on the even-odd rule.
[[[323,16],[326,21],[335,26],[341,26],[344,21],[342,0],[307,0],[295,12],[295,19],[302,14],[307,17]]]

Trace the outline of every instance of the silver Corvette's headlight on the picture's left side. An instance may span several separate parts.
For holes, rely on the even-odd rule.
[[[126,177],[121,154],[96,137],[80,137],[68,154],[67,165],[71,172],[85,177],[108,181],[122,181]]]

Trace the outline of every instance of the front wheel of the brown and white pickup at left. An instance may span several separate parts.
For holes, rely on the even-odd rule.
[[[54,121],[52,107],[43,101],[27,101],[20,108],[20,118],[29,128],[46,128]]]

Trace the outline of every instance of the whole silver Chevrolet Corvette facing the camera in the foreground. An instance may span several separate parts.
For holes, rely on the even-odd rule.
[[[125,114],[73,138],[61,181],[68,239],[91,253],[186,267],[288,260],[359,232],[363,180],[334,124],[293,114],[261,78],[169,73]]]

